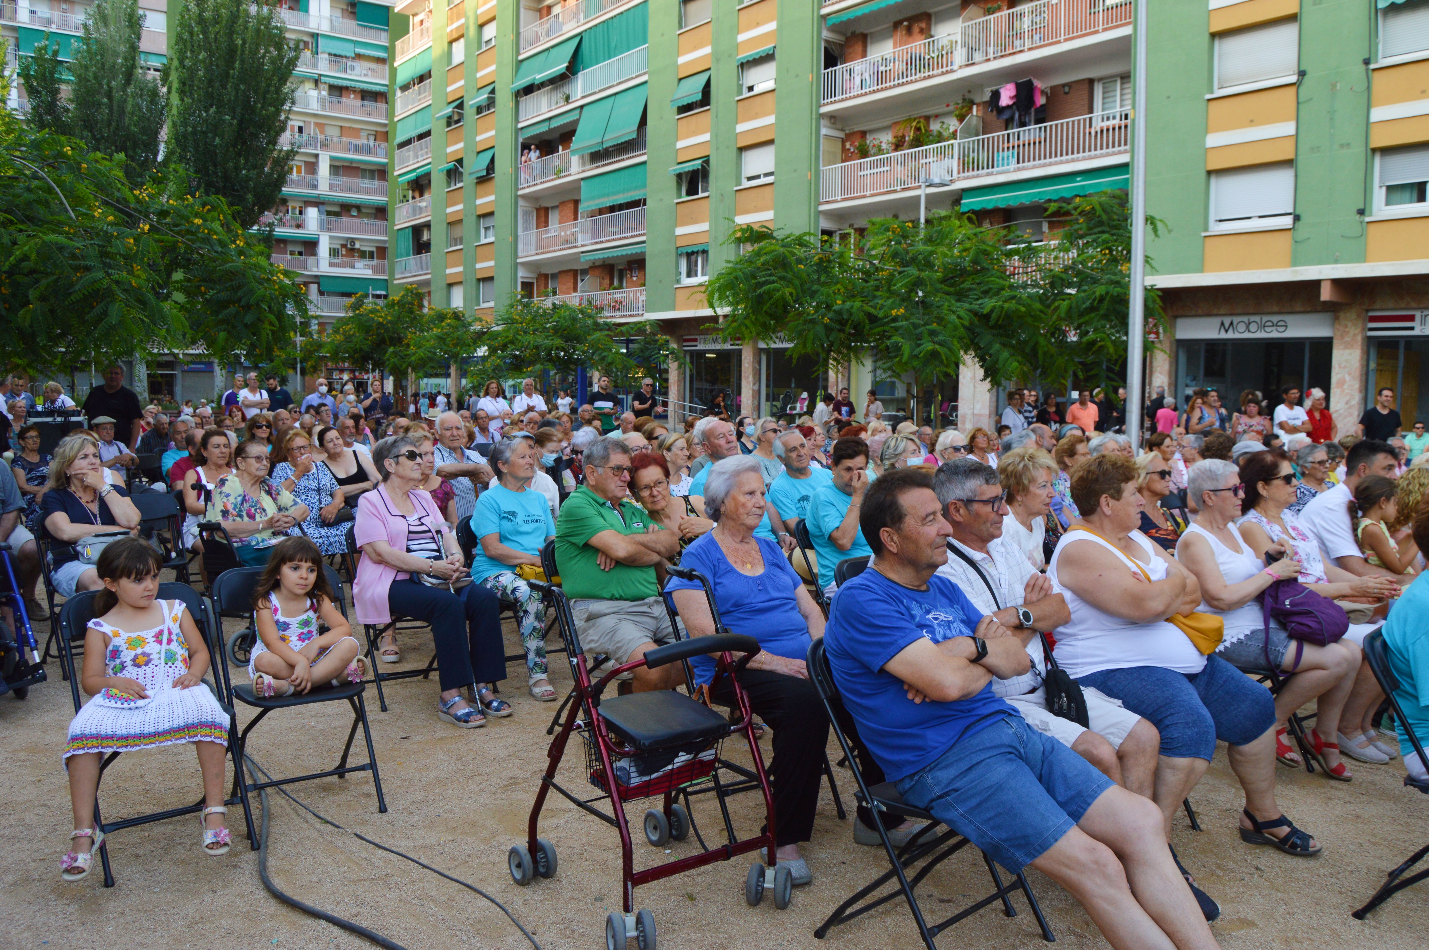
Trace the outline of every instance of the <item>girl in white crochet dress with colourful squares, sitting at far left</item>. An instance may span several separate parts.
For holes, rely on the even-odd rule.
[[[74,809],[71,850],[60,877],[89,874],[104,833],[94,829],[94,793],[100,760],[134,751],[194,743],[203,773],[203,850],[229,851],[224,827],[223,771],[229,716],[200,680],[209,650],[181,600],[156,600],[159,551],[137,537],[110,543],[96,571],[104,581],[94,604],[100,616],[84,631],[80,679],[90,701],[70,721],[64,764]]]

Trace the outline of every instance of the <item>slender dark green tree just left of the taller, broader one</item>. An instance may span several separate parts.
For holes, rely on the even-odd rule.
[[[137,0],[100,0],[84,19],[70,71],[70,134],[93,151],[124,156],[129,180],[140,183],[159,161],[166,99],[139,57]]]

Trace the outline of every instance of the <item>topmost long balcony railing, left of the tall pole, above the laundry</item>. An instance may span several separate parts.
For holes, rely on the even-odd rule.
[[[917,83],[1130,23],[1130,0],[1115,6],[1105,0],[1029,3],[963,23],[947,36],[827,69],[823,71],[823,101],[827,104]]]

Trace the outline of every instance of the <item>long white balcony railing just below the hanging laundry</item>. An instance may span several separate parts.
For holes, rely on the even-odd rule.
[[[916,189],[929,179],[962,181],[1125,153],[1129,130],[1127,113],[1097,113],[845,161],[820,173],[819,200],[845,201]]]

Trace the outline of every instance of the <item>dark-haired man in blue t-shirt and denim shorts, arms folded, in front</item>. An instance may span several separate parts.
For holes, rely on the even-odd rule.
[[[993,696],[1027,670],[1025,637],[935,571],[952,529],[933,479],[896,469],[865,496],[875,563],[833,600],[829,666],[860,734],[903,796],[1012,871],[1080,901],[1113,947],[1215,947],[1153,801],[1113,784]],[[1129,884],[1129,886],[1127,886]]]

